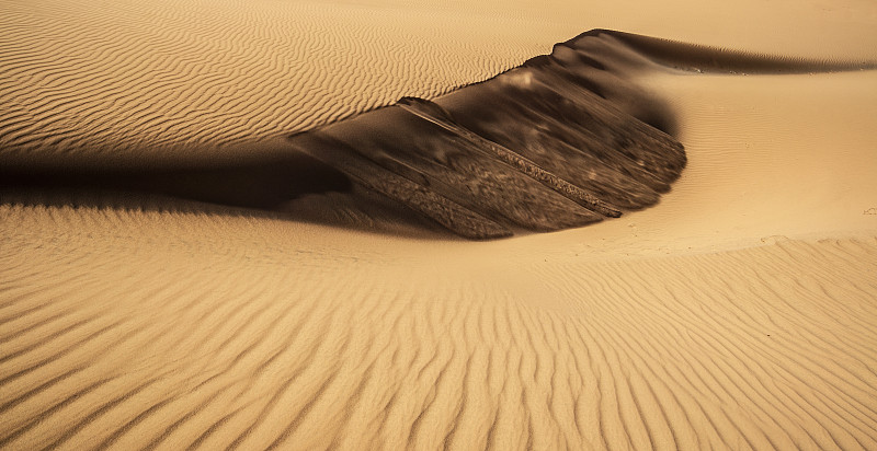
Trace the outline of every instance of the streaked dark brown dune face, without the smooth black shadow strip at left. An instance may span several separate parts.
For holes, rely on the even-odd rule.
[[[624,81],[633,65],[622,56],[630,49],[583,42],[597,39],[583,35],[494,79],[434,101],[406,97],[292,143],[467,238],[617,218],[620,208],[657,203],[685,153],[619,108],[670,116]],[[594,53],[580,50],[586,47]],[[604,91],[624,101],[616,105]]]

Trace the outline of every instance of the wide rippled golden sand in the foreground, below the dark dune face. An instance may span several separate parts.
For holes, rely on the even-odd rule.
[[[282,240],[244,218],[80,213],[104,226],[15,239],[0,262],[4,448],[877,447],[874,240],[522,261],[485,280],[330,253],[289,273],[284,245],[118,252],[104,235],[129,222]]]

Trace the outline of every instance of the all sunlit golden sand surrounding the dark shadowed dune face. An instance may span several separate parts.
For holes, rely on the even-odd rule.
[[[877,61],[855,0],[0,11],[2,167],[252,158],[597,27]],[[637,79],[685,170],[554,233],[4,186],[0,448],[877,449],[877,71],[734,72]]]

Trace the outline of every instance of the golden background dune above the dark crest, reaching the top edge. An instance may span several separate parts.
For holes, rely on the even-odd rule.
[[[217,158],[215,147],[487,79],[595,27],[788,57],[858,59],[877,45],[867,1],[4,0],[2,8],[5,159]]]

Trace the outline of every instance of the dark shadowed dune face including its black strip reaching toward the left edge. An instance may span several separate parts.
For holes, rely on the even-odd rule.
[[[297,134],[271,153],[175,164],[12,159],[0,165],[0,188],[123,190],[276,209],[309,194],[350,192],[346,175],[469,239],[617,218],[654,205],[685,153],[665,134],[672,113],[629,80],[654,65],[612,36],[582,34],[493,79],[433,101],[403,97]]]

